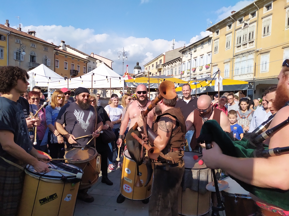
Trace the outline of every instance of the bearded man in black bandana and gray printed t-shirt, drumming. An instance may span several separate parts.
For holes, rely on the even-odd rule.
[[[103,128],[102,118],[99,113],[95,112],[95,108],[89,103],[89,92],[86,88],[79,87],[75,90],[76,101],[64,105],[55,120],[55,129],[67,139],[72,147],[84,147],[92,137],[98,137],[98,131]],[[97,116],[97,122],[96,122]],[[65,129],[63,127],[65,125]],[[97,126],[95,127],[95,124]],[[95,128],[97,130],[95,131]],[[75,137],[93,134],[75,141]],[[67,143],[67,144],[68,144]],[[77,145],[74,145],[76,144]],[[90,142],[90,146],[94,146],[94,142]],[[77,198],[84,202],[93,202],[94,198],[87,194],[87,189],[78,191]]]

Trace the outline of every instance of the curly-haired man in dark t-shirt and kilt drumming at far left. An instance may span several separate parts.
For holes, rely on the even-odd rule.
[[[39,154],[30,142],[23,107],[16,102],[27,91],[27,78],[21,68],[0,67],[0,215],[5,216],[17,214],[23,168],[30,164],[39,173],[49,172],[48,157]]]

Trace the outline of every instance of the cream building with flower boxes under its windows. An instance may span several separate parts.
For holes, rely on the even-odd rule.
[[[181,79],[202,79],[211,76],[212,35],[181,49]],[[191,78],[191,79],[190,79]]]

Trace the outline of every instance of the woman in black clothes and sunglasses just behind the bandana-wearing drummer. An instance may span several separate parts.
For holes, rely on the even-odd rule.
[[[105,109],[102,106],[98,106],[97,105],[97,94],[90,94],[90,104],[92,106],[94,106],[99,115],[102,118],[102,122],[103,122],[103,128],[102,130],[107,130],[109,127],[113,128],[113,124],[110,121],[110,118],[108,117],[108,114],[106,113]],[[106,183],[107,185],[113,185],[112,181],[110,181],[108,179],[108,164],[107,164],[107,160],[108,160],[108,156],[110,158],[112,158],[113,154],[112,151],[110,150],[110,147],[108,145],[108,143],[103,143],[101,137],[97,137],[96,138],[96,145],[95,148],[97,150],[97,152],[101,155],[101,182],[102,183]]]

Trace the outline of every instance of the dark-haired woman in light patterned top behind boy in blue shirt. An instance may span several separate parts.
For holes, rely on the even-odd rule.
[[[248,98],[241,98],[239,110],[237,111],[237,123],[243,128],[244,133],[249,130],[250,122],[254,111],[250,110],[250,101]]]

